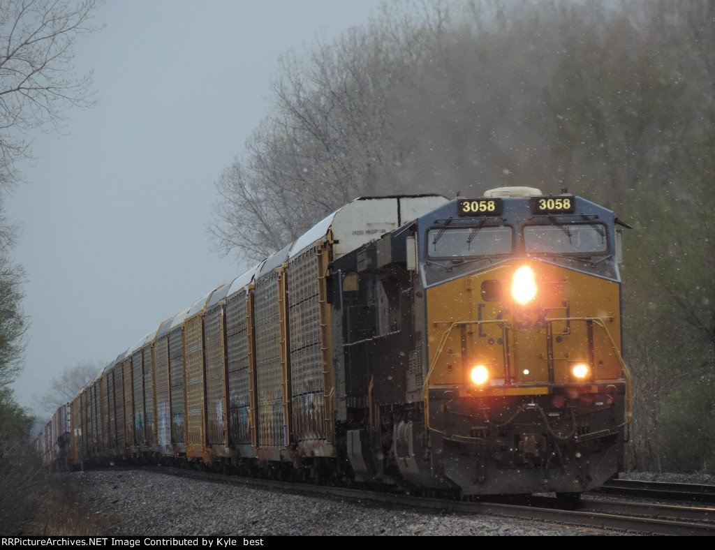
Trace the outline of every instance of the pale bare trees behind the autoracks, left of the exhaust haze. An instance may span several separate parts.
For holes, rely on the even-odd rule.
[[[368,26],[283,56],[271,116],[216,185],[219,251],[263,258],[355,197],[394,191],[379,183],[400,157],[386,96],[435,47],[446,4],[385,4]]]

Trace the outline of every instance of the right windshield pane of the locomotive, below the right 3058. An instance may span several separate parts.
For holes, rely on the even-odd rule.
[[[548,254],[605,254],[606,227],[601,224],[560,224],[524,228],[527,252]]]

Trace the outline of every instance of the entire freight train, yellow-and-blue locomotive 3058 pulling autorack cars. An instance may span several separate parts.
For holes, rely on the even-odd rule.
[[[356,199],[120,354],[39,449],[578,495],[618,472],[631,419],[618,223],[565,191]]]

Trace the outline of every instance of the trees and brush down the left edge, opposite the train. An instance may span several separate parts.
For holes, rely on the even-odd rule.
[[[5,199],[24,183],[17,166],[31,157],[33,132],[56,126],[67,107],[93,104],[89,76],[75,75],[71,61],[74,41],[94,31],[90,20],[101,2],[0,1],[0,536],[82,532],[66,514],[77,494],[50,484],[34,446],[34,418],[11,389],[23,367],[29,318],[24,269],[12,257],[19,226],[6,215]]]

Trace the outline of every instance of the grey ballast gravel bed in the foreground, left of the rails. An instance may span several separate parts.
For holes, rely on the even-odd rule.
[[[151,471],[71,474],[109,536],[563,536],[614,531],[513,518],[413,510],[291,494]]]

